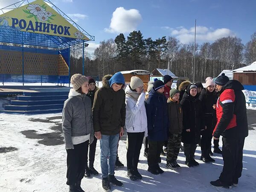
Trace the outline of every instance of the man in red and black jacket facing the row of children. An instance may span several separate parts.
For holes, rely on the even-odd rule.
[[[215,187],[232,188],[232,185],[238,186],[241,177],[244,139],[248,136],[244,87],[239,81],[229,81],[224,73],[215,83],[221,95],[217,101],[217,124],[212,135],[215,140],[222,136],[224,166],[219,179],[210,183]]]

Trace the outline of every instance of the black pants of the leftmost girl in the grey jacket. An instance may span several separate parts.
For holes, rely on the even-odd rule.
[[[67,185],[82,180],[87,164],[89,140],[67,149]]]

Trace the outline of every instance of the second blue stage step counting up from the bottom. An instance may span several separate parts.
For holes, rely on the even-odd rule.
[[[28,111],[28,110],[49,110],[63,109],[63,104],[54,105],[5,105],[4,110],[8,111]]]

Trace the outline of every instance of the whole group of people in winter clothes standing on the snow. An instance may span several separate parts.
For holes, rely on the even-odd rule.
[[[147,94],[143,81],[131,77],[125,84],[122,73],[104,76],[97,88],[92,78],[81,74],[71,77],[73,89],[64,102],[62,129],[67,150],[67,185],[70,192],[84,192],[81,179],[98,175],[94,169],[96,142],[100,141],[102,188],[122,186],[116,179],[115,166],[123,166],[117,156],[118,143],[127,132],[127,176],[141,180],[137,166],[144,141],[144,156],[148,172],[163,174],[160,154],[167,152],[166,167],[179,169],[177,156],[183,143],[186,166],[199,166],[195,160],[197,144],[201,145],[201,160],[214,162],[210,155],[212,136],[214,152],[223,155],[223,171],[212,186],[237,186],[242,171],[244,138],[248,135],[243,86],[222,74],[215,81],[207,77],[201,83],[177,81],[166,75],[163,81],[148,82]],[[222,135],[222,151],[218,140]],[[89,165],[88,160],[89,151]]]

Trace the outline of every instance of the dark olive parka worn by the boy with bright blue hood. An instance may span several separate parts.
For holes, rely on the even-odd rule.
[[[103,77],[93,102],[94,131],[101,131],[103,135],[119,134],[125,126],[125,91],[114,91],[108,83],[110,78],[111,75]]]

